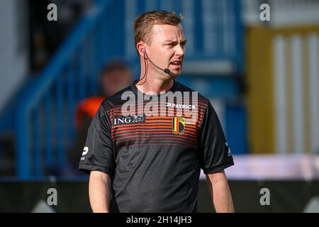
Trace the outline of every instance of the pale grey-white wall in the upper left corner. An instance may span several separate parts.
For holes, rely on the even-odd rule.
[[[21,2],[0,1],[0,112],[28,73],[28,23],[21,15],[27,8]]]

